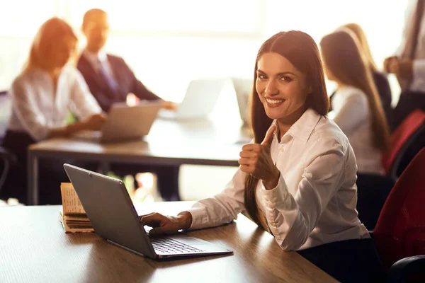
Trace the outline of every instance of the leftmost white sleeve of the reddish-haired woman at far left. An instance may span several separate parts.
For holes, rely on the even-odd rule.
[[[22,127],[35,141],[45,139],[50,132],[45,115],[37,107],[33,86],[26,81],[14,81],[11,89],[13,112]]]

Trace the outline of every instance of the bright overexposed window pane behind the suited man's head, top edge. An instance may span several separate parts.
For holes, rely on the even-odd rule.
[[[138,33],[261,33],[261,0],[69,1],[68,19],[80,26],[90,8],[102,8],[111,28]]]

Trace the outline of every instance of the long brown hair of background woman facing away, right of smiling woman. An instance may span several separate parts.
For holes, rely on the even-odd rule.
[[[324,66],[336,81],[361,89],[368,98],[373,146],[385,152],[390,141],[387,120],[367,61],[351,30],[341,28],[320,41]]]

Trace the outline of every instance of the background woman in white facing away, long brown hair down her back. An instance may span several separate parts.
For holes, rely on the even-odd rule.
[[[370,69],[356,35],[341,28],[320,42],[329,80],[338,85],[332,99],[334,122],[348,137],[359,173],[383,174],[381,154],[389,146],[389,130]]]

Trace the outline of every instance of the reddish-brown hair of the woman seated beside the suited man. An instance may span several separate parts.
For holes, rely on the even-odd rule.
[[[67,22],[60,18],[50,18],[38,29],[30,47],[30,54],[24,65],[24,71],[34,67],[50,68],[50,52],[56,42],[64,37],[72,37],[77,42],[77,36]]]

